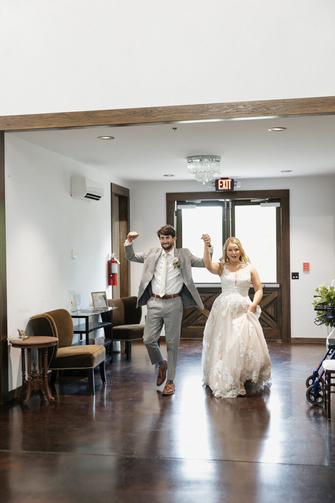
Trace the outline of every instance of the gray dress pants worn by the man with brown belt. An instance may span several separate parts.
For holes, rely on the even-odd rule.
[[[147,308],[143,342],[148,350],[151,363],[154,365],[161,362],[164,357],[158,346],[158,339],[163,324],[165,325],[168,361],[167,378],[172,381],[176,374],[181,318],[183,315],[181,297],[174,297],[173,299],[150,297]]]

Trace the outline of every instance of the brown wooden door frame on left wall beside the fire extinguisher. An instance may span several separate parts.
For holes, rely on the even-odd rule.
[[[115,215],[113,212],[115,200],[118,200],[119,205],[119,222],[120,222],[120,248],[115,249]],[[125,259],[124,242],[127,239],[127,234],[130,229],[130,197],[129,189],[121,187],[121,185],[110,184],[110,209],[111,209],[111,250],[117,253],[120,261],[119,278],[120,278],[120,297],[128,297],[130,295],[130,266],[129,261]],[[112,287],[113,297],[115,287]]]

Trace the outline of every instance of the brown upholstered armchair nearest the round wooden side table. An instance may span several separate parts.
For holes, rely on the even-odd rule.
[[[73,339],[73,321],[66,309],[55,309],[30,318],[35,336],[58,337],[58,344],[48,352],[48,369],[51,370],[51,384],[55,383],[58,370],[85,369],[89,391],[95,394],[94,368],[99,365],[103,384],[106,382],[103,346],[71,346]],[[51,348],[50,348],[51,349]],[[49,354],[50,353],[50,354]]]

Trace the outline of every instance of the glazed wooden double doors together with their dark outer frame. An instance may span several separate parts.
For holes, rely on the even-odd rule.
[[[201,234],[208,233],[214,246],[213,261],[222,246],[238,237],[263,286],[260,323],[268,341],[290,342],[289,191],[244,191],[167,194],[167,221],[176,227],[177,247],[202,257]],[[196,231],[194,229],[196,228]],[[202,339],[211,306],[221,292],[220,280],[196,268],[193,280],[204,309],[184,309],[181,339]],[[254,296],[251,285],[249,296]]]

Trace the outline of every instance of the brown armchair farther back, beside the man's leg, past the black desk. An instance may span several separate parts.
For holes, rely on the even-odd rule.
[[[142,307],[136,307],[137,297],[108,299],[113,311],[113,340],[124,341],[127,360],[132,357],[132,341],[143,339],[144,325],[140,325]]]

